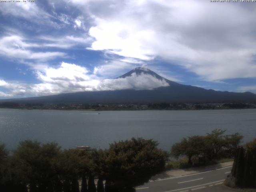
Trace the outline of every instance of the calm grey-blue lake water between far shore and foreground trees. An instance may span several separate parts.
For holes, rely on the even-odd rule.
[[[98,114],[99,113],[99,114]],[[244,142],[256,137],[256,109],[192,111],[64,111],[0,109],[0,142],[15,149],[22,140],[58,142],[63,148],[108,144],[131,137],[159,142],[170,150],[183,137],[215,128],[239,132]]]

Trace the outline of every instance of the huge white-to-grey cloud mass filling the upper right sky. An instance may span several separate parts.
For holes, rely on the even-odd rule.
[[[72,2],[94,19],[91,50],[145,61],[161,57],[203,80],[256,77],[255,6],[196,0]]]

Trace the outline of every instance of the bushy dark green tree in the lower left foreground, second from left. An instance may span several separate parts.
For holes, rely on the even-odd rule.
[[[39,142],[26,140],[20,142],[12,157],[14,179],[30,186],[30,191],[53,191],[56,172],[52,160],[60,147],[56,143],[41,145]]]

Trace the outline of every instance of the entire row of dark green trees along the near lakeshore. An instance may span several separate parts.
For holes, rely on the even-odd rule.
[[[170,152],[143,138],[114,142],[105,150],[66,150],[55,142],[25,140],[10,153],[0,144],[0,191],[134,192],[152,176],[175,168],[170,156],[187,167],[235,157],[229,186],[246,187],[250,177],[250,186],[256,187],[256,139],[241,146],[242,138],[216,129],[183,138]]]

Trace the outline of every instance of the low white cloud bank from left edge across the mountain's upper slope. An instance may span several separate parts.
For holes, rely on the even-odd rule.
[[[94,69],[95,70],[95,69]],[[152,90],[161,86],[169,86],[165,80],[159,80],[149,74],[137,75],[117,79],[99,80],[82,66],[62,62],[58,68],[47,67],[36,71],[40,83],[20,84],[0,80],[0,87],[8,92],[0,92],[0,96],[43,96],[68,92],[106,91],[106,90]]]

